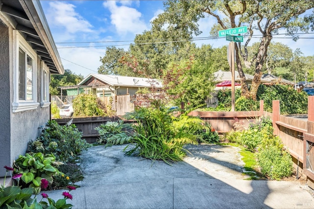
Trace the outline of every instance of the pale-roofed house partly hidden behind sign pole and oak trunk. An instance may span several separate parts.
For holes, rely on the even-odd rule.
[[[246,83],[248,85],[248,87],[250,87],[252,85],[252,80],[254,78],[253,75],[250,74],[246,74],[244,73],[245,78],[246,78]],[[218,70],[217,72],[214,72],[214,77],[215,77],[215,84],[218,84],[222,81],[231,81],[232,79],[232,74],[231,71],[222,71],[222,70]],[[235,82],[240,83],[241,82],[241,78],[239,76],[239,72],[235,71]],[[261,83],[269,83],[269,80],[266,79],[262,79],[261,78]],[[223,89],[224,87],[215,87],[215,90],[219,90],[219,89]],[[235,88],[241,88],[241,86],[236,86]]]

